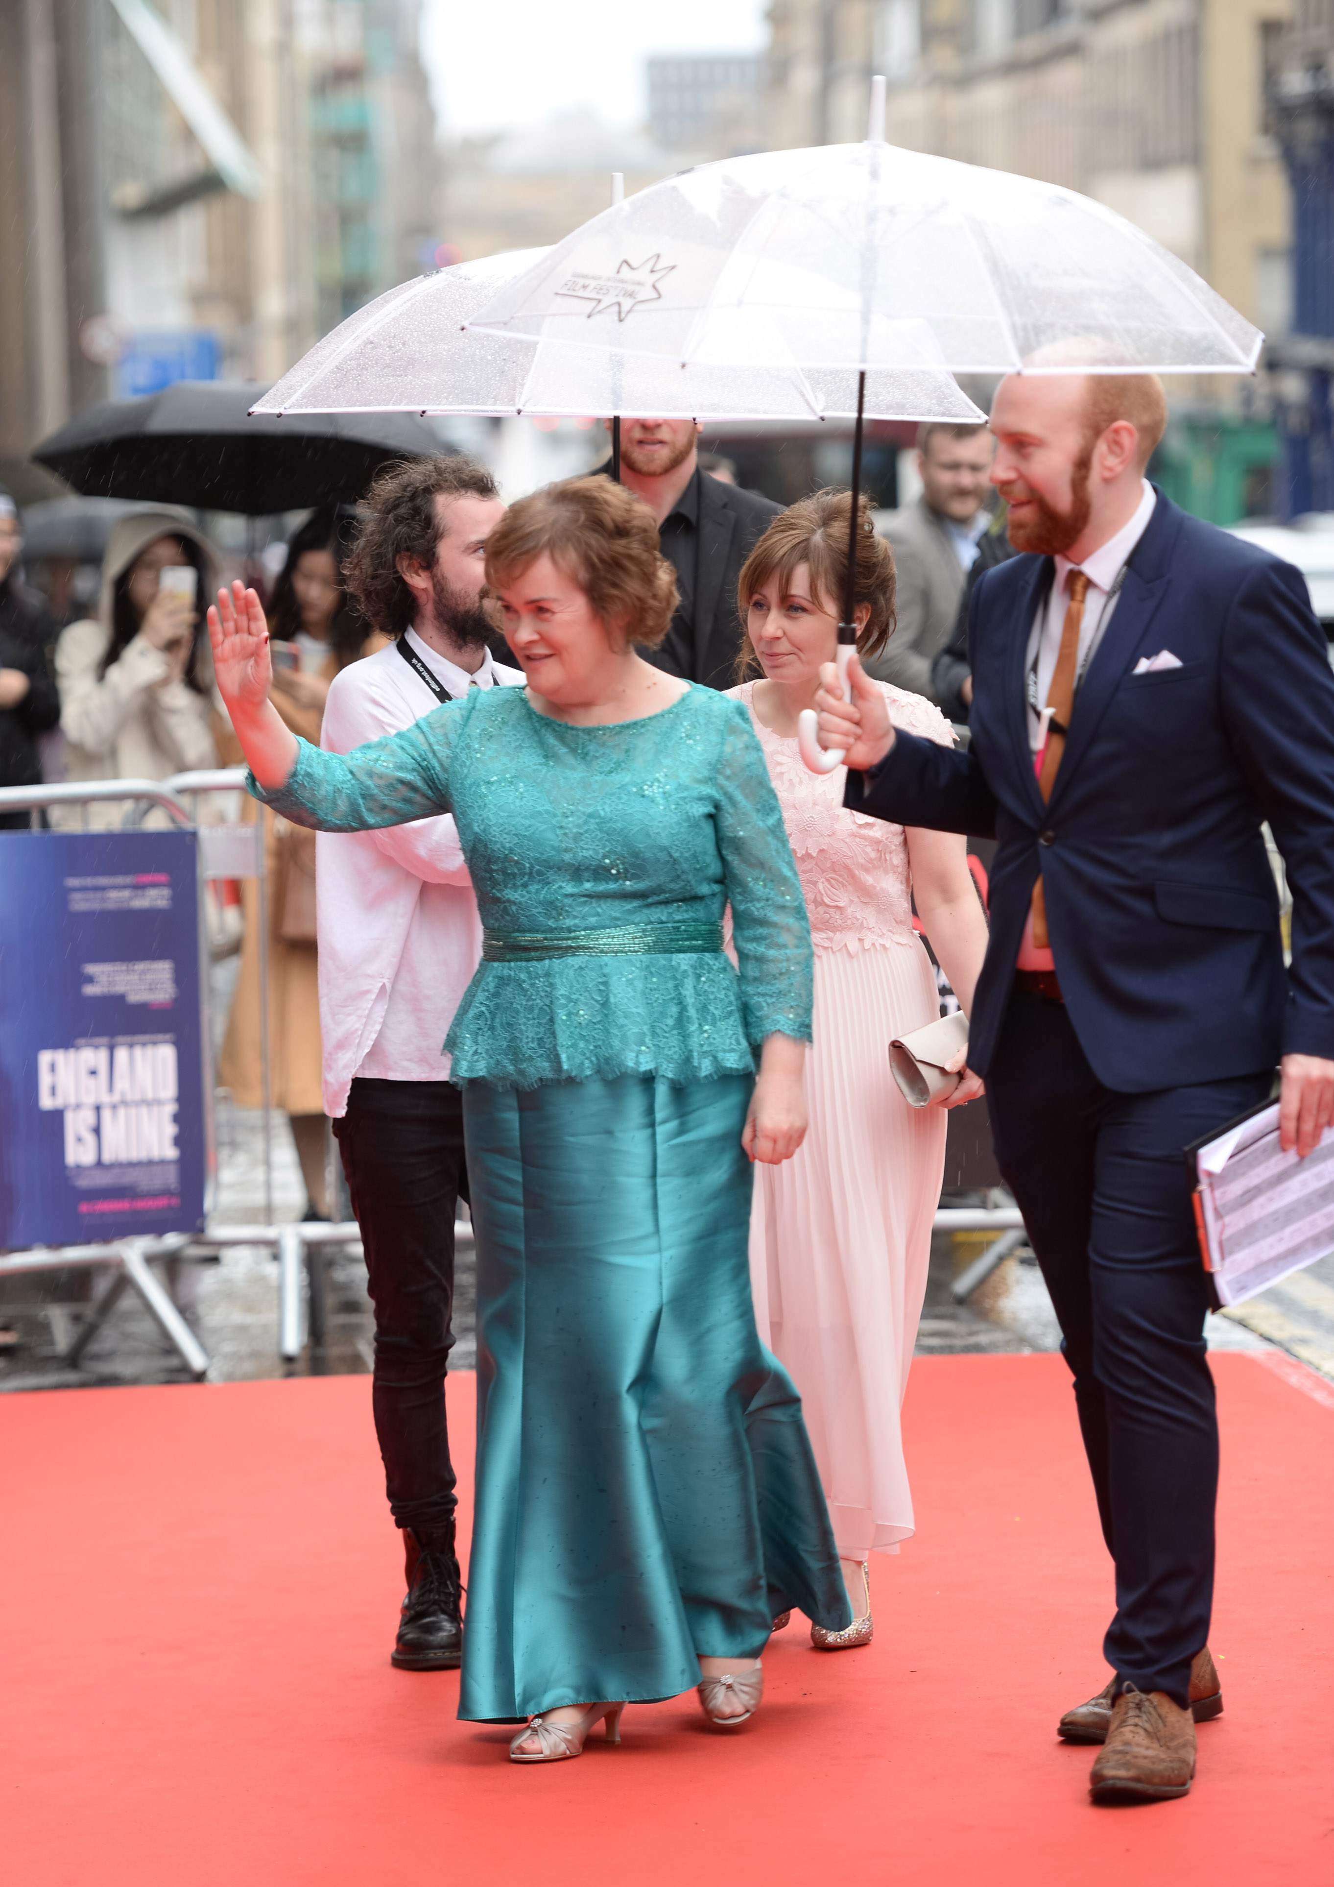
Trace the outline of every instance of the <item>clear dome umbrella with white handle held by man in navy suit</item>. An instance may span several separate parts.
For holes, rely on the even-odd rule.
[[[498,287],[504,340],[694,370],[1249,374],[1262,334],[1185,262],[1074,191],[885,143],[726,159],[638,191]],[[860,400],[859,400],[860,415]],[[860,445],[860,419],[857,426]],[[853,519],[860,453],[853,453]],[[855,640],[853,559],[840,664]],[[806,723],[808,766],[825,772]]]

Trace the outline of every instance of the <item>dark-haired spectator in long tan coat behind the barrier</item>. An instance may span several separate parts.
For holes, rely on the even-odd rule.
[[[275,649],[274,706],[302,740],[319,743],[328,687],[366,651],[366,621],[349,598],[343,562],[355,511],[325,506],[296,532],[274,587],[268,632]],[[370,647],[379,647],[379,638]],[[242,751],[230,726],[226,764]],[[247,800],[245,817],[257,817]],[[268,870],[270,1102],[291,1117],[306,1181],[306,1219],[328,1219],[328,1127],[321,1094],[319,981],[315,962],[315,834],[264,813]],[[240,1108],[264,1104],[258,1002],[258,887],[245,879],[245,936],[219,1081]]]

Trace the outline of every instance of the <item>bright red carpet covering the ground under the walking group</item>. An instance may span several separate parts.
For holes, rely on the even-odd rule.
[[[517,1770],[455,1676],[391,1670],[400,1587],[366,1378],[0,1398],[8,1887],[547,1878],[1319,1887],[1334,1879],[1334,1410],[1217,1359],[1213,1649],[1185,1802],[1094,1810],[1066,1704],[1104,1681],[1109,1574],[1057,1357],[913,1366],[919,1536],[872,1649],[794,1623],[760,1717],[630,1710]],[[472,1379],[451,1378],[459,1459]]]

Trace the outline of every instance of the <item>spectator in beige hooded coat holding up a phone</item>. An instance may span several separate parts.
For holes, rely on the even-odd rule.
[[[162,574],[194,570],[194,596]],[[208,538],[185,513],[160,508],[123,517],[108,540],[98,613],[60,634],[55,670],[72,781],[168,779],[217,766],[213,657],[202,598],[217,585]],[[125,800],[87,808],[92,827],[117,827]],[[79,825],[83,810],[55,811]],[[164,823],[166,813],[147,815]]]

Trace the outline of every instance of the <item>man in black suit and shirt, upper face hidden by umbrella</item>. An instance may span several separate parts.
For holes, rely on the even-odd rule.
[[[730,689],[742,651],[736,579],[783,506],[704,472],[702,430],[692,419],[623,419],[621,483],[657,517],[681,593],[666,640],[645,659],[683,681]]]

